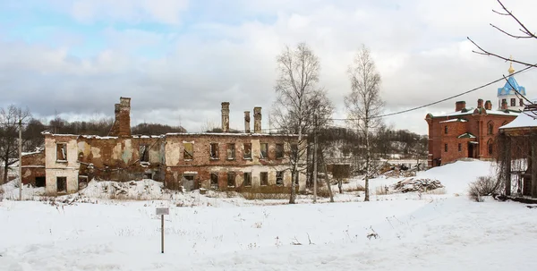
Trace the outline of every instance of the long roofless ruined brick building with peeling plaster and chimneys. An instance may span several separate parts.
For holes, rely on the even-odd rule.
[[[261,130],[261,108],[244,112],[244,131],[229,130],[229,103],[222,103],[222,132],[131,134],[131,98],[115,105],[115,123],[107,137],[43,132],[45,149],[24,157],[24,183],[45,184],[47,192],[75,192],[90,180],[129,181],[143,178],[167,187],[222,191],[274,191],[291,185],[289,155],[294,135]],[[305,144],[305,143],[304,143]],[[39,178],[39,179],[38,179]],[[299,174],[299,190],[305,189]],[[45,180],[45,183],[43,183]]]

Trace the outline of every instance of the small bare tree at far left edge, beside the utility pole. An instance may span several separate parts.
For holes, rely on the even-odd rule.
[[[4,176],[0,183],[7,182],[7,174],[10,165],[19,161],[19,122],[30,119],[29,109],[11,105],[0,108],[0,162],[4,165]]]

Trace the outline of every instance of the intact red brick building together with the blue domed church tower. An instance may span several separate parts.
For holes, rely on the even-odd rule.
[[[483,105],[480,98],[476,107],[466,107],[465,101],[458,101],[455,112],[425,116],[429,124],[429,167],[465,157],[491,159],[494,156],[494,138],[499,127],[513,121],[523,108],[522,98],[517,97],[514,88],[524,96],[525,88],[513,76],[512,64],[508,72],[507,82],[498,89],[497,109],[492,109],[490,100]]]

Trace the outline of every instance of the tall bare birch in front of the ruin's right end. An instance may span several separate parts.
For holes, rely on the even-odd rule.
[[[293,48],[287,46],[277,55],[277,71],[277,100],[272,108],[271,123],[282,132],[298,135],[289,159],[292,174],[289,203],[293,204],[299,174],[307,168],[304,161],[307,156],[306,135],[312,125],[311,103],[323,93],[317,86],[320,63],[311,48],[300,43]]]

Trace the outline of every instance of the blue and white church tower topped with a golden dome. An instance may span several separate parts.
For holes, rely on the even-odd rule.
[[[509,78],[503,88],[498,89],[498,109],[522,111],[524,109],[525,88],[516,82],[513,62],[509,65]]]

